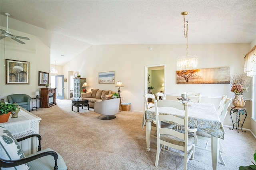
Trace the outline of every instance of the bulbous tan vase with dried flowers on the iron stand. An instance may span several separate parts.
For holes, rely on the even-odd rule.
[[[243,93],[248,92],[250,81],[251,77],[247,77],[246,74],[236,74],[230,77],[230,91],[235,93],[235,96],[232,101],[234,107],[243,108],[245,106]]]

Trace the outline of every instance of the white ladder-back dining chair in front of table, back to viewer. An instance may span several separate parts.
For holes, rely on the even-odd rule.
[[[196,141],[196,128],[188,128],[188,103],[180,103],[179,101],[172,100],[155,100],[155,113],[156,113],[156,127],[157,127],[157,149],[156,149],[156,162],[155,166],[158,166],[159,156],[161,150],[165,150],[171,153],[178,154],[180,156],[184,156],[184,170],[187,169],[188,160],[194,159],[195,152],[195,144]],[[159,115],[158,107],[174,107],[176,109],[182,110],[185,112],[185,117],[179,118],[173,115]],[[162,128],[162,121],[171,121],[180,126],[187,127],[184,128],[184,131],[175,130],[170,128]],[[193,133],[194,132],[194,133]],[[171,151],[165,149],[163,146],[168,146],[169,148],[174,148],[177,150],[181,150],[184,154],[180,154],[179,152]],[[166,160],[166,161],[172,161]]]

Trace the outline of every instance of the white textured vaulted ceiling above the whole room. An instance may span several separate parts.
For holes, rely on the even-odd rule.
[[[90,45],[186,43],[182,11],[188,43],[256,39],[256,0],[0,0],[0,27],[8,12],[10,29],[40,38],[63,65]]]

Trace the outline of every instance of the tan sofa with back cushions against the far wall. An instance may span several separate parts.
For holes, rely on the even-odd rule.
[[[89,100],[89,107],[94,108],[94,103],[96,101],[104,101],[112,99],[112,94],[116,93],[111,90],[99,90],[91,89],[90,92],[81,93],[82,100]]]

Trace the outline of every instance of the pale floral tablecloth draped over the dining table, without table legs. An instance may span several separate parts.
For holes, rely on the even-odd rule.
[[[188,125],[196,127],[214,137],[224,139],[225,130],[217,115],[215,106],[211,103],[189,103],[188,107]],[[184,111],[173,107],[159,107],[160,115],[174,115],[184,118]],[[155,108],[152,107],[144,112],[142,119],[142,129],[146,120],[156,120]]]

